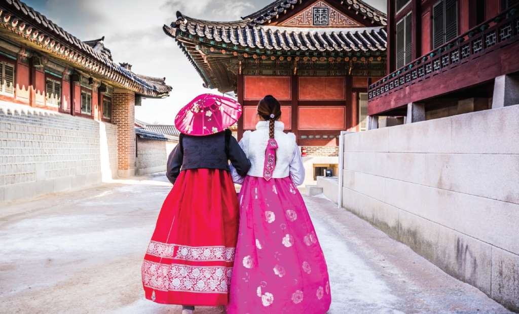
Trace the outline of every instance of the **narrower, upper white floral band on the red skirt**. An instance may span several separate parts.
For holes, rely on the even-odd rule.
[[[184,261],[233,262],[235,248],[226,248],[223,246],[188,247],[187,245],[150,241],[146,254]]]

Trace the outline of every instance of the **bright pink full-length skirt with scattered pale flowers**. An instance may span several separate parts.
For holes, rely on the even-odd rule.
[[[330,281],[305,202],[290,177],[247,176],[228,314],[322,314]]]

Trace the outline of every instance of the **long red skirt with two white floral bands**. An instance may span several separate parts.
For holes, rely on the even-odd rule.
[[[144,256],[146,298],[163,304],[226,305],[238,210],[228,171],[182,171],[162,204]]]

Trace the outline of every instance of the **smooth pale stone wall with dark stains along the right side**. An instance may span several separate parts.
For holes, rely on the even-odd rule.
[[[519,105],[344,135],[342,206],[519,311]]]

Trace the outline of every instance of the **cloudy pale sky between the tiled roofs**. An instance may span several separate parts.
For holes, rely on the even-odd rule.
[[[23,0],[22,0],[23,1]],[[162,31],[176,20],[176,11],[198,19],[234,21],[274,0],[24,0],[80,40],[105,36],[104,44],[116,62],[132,64],[132,71],[166,77],[170,97],[144,99],[135,118],[151,124],[173,124],[180,108],[201,93],[203,81],[177,46]],[[386,11],[386,0],[365,0]]]

